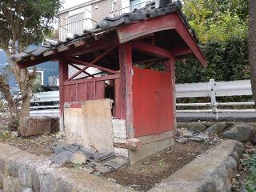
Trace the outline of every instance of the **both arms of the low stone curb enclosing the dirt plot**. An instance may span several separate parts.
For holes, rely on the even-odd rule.
[[[226,192],[237,171],[243,144],[223,140],[176,171],[150,192]],[[35,192],[132,192],[130,188],[97,178],[82,170],[57,168],[38,157],[0,143],[0,191]]]

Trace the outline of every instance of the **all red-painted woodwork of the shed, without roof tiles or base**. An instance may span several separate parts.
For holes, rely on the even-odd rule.
[[[155,34],[162,30],[167,30],[164,34],[171,31],[172,34],[175,34],[175,38],[179,37],[182,39],[177,41],[182,42],[181,45],[177,46],[175,43],[170,46],[164,45],[165,38],[158,39],[159,35]],[[106,57],[106,61],[111,61],[111,57],[117,54],[115,47],[118,47],[120,70],[116,71],[118,66],[110,67],[110,62],[106,66],[101,62],[102,66],[98,66],[97,62],[107,54],[109,55]],[[143,54],[139,54],[137,58],[134,57],[136,60],[139,60],[138,62],[142,63],[145,62],[142,60],[154,62],[155,59],[167,58],[165,63],[166,73],[137,68],[133,70],[132,50],[150,55],[154,54],[154,56],[158,57],[152,58],[147,55],[146,58],[142,59]],[[102,51],[104,52],[98,55]],[[91,52],[94,52],[94,54],[83,55]],[[174,62],[176,57],[187,54],[194,54],[202,65],[206,65],[206,58],[199,49],[197,42],[178,14],[174,13],[133,22],[118,27],[116,31],[113,30],[107,36],[102,36],[100,40],[75,42],[19,64],[24,68],[48,60],[61,60],[59,63],[59,77],[62,119],[64,102],[102,99],[105,98],[105,87],[114,86],[114,116],[126,120],[127,135],[129,138],[134,138],[174,129]],[[76,57],[80,55],[83,56]],[[95,55],[98,56],[94,58]],[[94,60],[91,62],[93,58]],[[86,59],[90,60],[90,62],[84,61]],[[116,65],[118,59],[112,58],[112,61]],[[74,66],[74,64],[84,66],[82,69],[74,66],[79,71],[68,78],[68,64],[70,66]],[[88,67],[98,68],[98,70],[111,75],[96,78],[94,77],[96,74],[86,72]],[[82,73],[87,76],[74,79],[78,74]],[[111,80],[110,85],[106,85],[106,80]]]

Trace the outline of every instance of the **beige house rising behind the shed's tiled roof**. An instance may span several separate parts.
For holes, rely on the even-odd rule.
[[[146,6],[149,0],[92,0],[61,10],[58,13],[59,40],[73,38],[91,30],[105,17],[115,17]]]

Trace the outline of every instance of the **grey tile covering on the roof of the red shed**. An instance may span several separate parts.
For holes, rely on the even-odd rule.
[[[25,50],[20,54],[11,55],[11,59],[19,62],[26,60],[30,57],[37,57],[51,50],[57,50],[63,46],[74,44],[75,42],[82,41],[83,39],[97,39],[101,34],[106,34],[111,30],[117,29],[119,26],[127,25],[130,22],[145,20],[146,18],[155,18],[165,14],[178,13],[182,21],[186,24],[190,30],[190,34],[198,41],[194,30],[191,29],[189,23],[186,21],[185,15],[182,13],[182,3],[178,0],[172,2],[172,0],[155,0],[149,2],[141,9],[134,10],[130,13],[122,14],[114,18],[106,17],[102,21],[98,22],[93,30],[84,30],[83,34],[74,34],[74,38],[66,38],[65,42],[58,43],[43,43],[42,46],[34,50]]]

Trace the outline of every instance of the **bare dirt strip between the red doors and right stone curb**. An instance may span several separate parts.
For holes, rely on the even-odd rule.
[[[186,144],[175,142],[174,146],[161,153],[151,155],[132,166],[123,166],[119,170],[102,176],[135,190],[150,190],[156,183],[181,169],[182,166],[203,154],[211,146],[204,142],[187,142]]]

